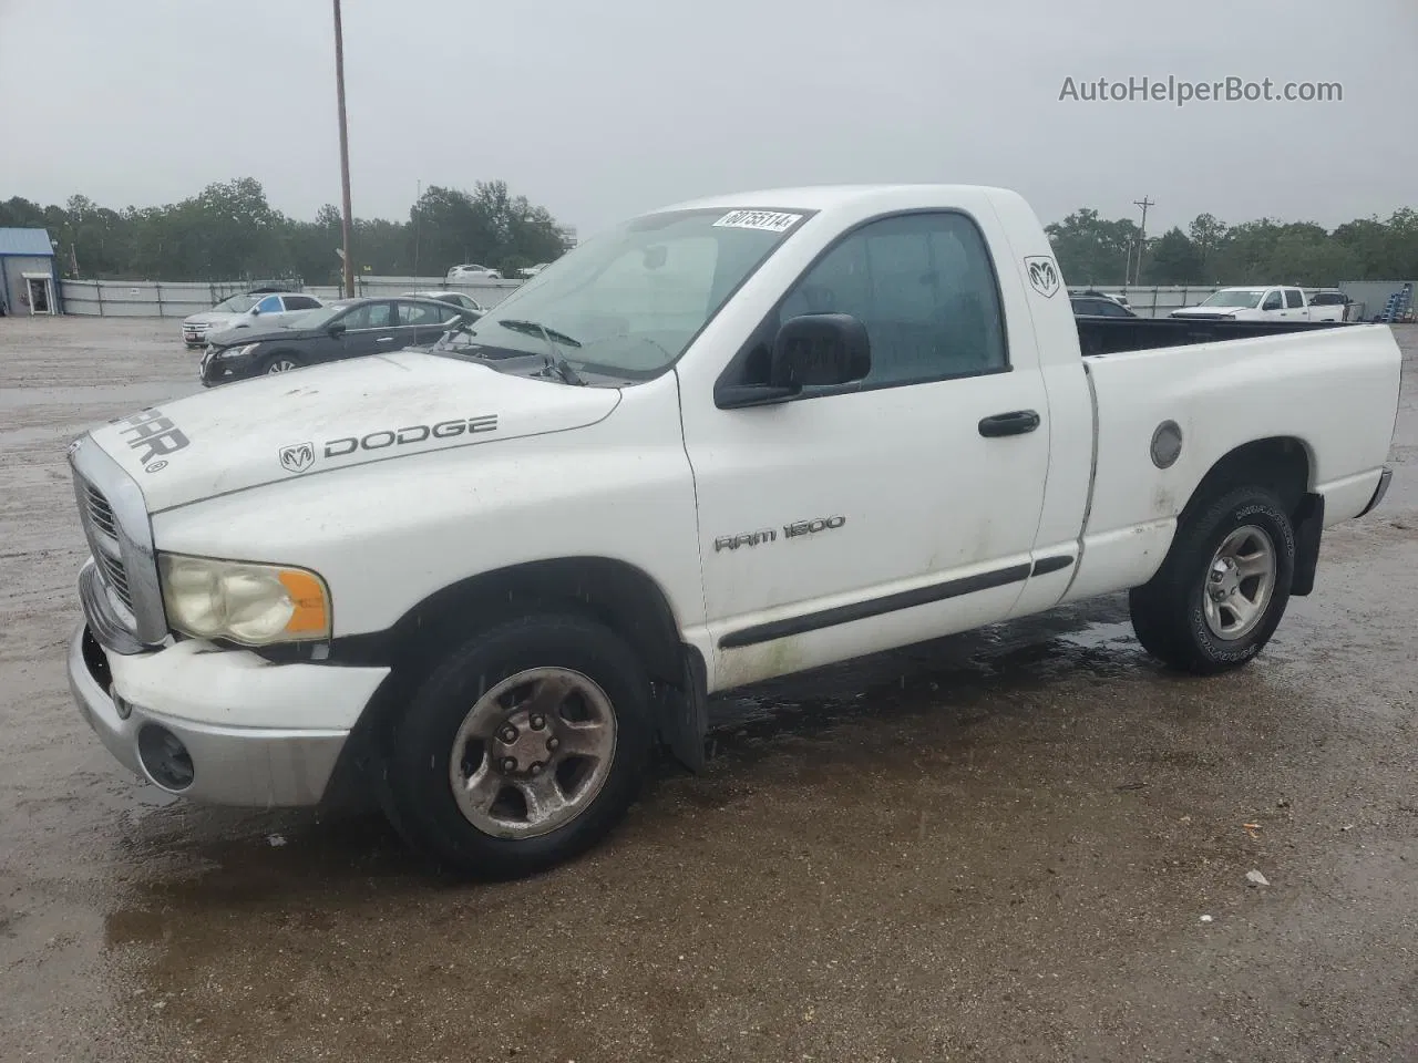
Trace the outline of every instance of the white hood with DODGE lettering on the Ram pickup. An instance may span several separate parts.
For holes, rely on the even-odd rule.
[[[352,465],[583,428],[618,403],[615,388],[406,350],[228,384],[91,435],[157,513]]]

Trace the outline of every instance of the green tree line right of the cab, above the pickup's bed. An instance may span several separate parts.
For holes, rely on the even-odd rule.
[[[1139,272],[1137,223],[1082,208],[1045,225],[1072,285],[1296,283],[1404,281],[1418,276],[1418,211],[1349,221],[1333,231],[1312,221],[1261,218],[1227,225],[1198,214],[1183,231],[1147,238]]]

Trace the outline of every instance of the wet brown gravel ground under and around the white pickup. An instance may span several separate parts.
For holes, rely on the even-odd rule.
[[[588,857],[467,886],[377,818],[111,761],[64,679],[64,444],[197,357],[176,322],[0,319],[0,1060],[1418,1059],[1397,332],[1388,502],[1242,673],[1161,672],[1106,598],[780,682]]]

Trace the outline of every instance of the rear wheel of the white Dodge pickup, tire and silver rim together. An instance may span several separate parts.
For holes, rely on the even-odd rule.
[[[1161,568],[1129,595],[1133,629],[1173,668],[1239,668],[1271,641],[1293,578],[1290,517],[1269,492],[1238,488],[1177,529]]]

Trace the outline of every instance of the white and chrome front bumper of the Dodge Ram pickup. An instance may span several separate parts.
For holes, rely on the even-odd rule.
[[[69,639],[69,690],[108,751],[170,794],[257,808],[319,804],[350,729],[389,669],[252,658],[182,643],[109,655],[79,624]],[[312,726],[269,726],[292,717]],[[233,726],[231,719],[255,726]],[[173,784],[155,754],[170,751],[172,740],[186,753],[184,785]]]

